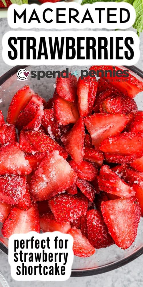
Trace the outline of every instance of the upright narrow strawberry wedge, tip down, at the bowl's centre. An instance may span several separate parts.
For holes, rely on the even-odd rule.
[[[80,118],[67,134],[61,137],[67,153],[80,164],[84,156],[84,121]]]

